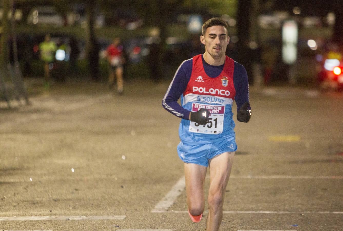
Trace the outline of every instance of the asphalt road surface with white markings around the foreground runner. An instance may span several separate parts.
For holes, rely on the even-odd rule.
[[[0,230],[205,230],[207,209],[198,224],[186,212],[167,87],[131,82],[119,96],[73,82],[0,104]],[[264,88],[250,100],[220,230],[343,230],[343,94]]]

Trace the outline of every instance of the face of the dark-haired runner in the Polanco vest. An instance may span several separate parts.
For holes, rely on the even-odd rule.
[[[208,27],[205,36],[200,36],[201,43],[205,45],[206,51],[214,59],[222,58],[225,55],[229,39],[226,28],[220,25]]]

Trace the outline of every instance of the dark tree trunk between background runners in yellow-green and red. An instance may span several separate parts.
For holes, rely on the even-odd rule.
[[[92,79],[99,81],[99,46],[94,33],[94,7],[93,1],[87,1],[86,58]]]

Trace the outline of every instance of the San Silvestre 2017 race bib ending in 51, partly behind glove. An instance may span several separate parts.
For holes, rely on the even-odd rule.
[[[223,132],[224,126],[225,105],[208,105],[192,103],[192,112],[197,112],[201,108],[205,108],[210,111],[211,114],[209,117],[209,122],[205,125],[200,125],[191,121],[189,123],[188,131],[213,135],[221,134]]]

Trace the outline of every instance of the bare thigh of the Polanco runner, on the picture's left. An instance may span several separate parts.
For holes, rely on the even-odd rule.
[[[193,163],[184,163],[187,200],[203,200],[207,168]]]

